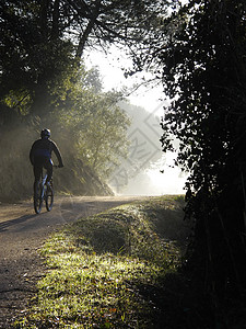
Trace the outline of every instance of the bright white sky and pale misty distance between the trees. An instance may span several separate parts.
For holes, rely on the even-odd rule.
[[[102,53],[90,53],[85,64],[89,68],[92,66],[98,67],[105,90],[120,90],[124,86],[132,87],[140,81],[140,78],[133,76],[126,79],[121,67],[130,67],[130,60],[124,57],[120,59],[121,54],[116,49],[114,52],[115,54],[108,56]],[[132,118],[129,131],[130,138],[134,138],[134,143],[139,145],[145,145],[144,147],[150,141],[149,150],[152,150],[153,158],[149,160],[148,166],[141,166],[139,161],[136,163],[136,159],[133,161],[130,159],[128,163],[124,162],[109,181],[109,185],[116,194],[162,195],[185,193],[186,175],[181,174],[178,168],[168,167],[168,164],[173,164],[171,161],[172,156],[168,156],[168,163],[166,163],[166,156],[161,150],[160,137],[162,129],[160,121],[164,111],[163,106],[166,104],[162,101],[162,98],[164,98],[162,86],[156,86],[153,89],[141,87],[129,97],[129,107],[126,107],[126,104],[122,106]],[[152,149],[150,149],[151,147]],[[142,161],[144,162],[144,150],[139,149],[139,151],[142,151]],[[129,170],[131,173],[129,173]],[[164,170],[164,173],[161,173],[160,170]]]

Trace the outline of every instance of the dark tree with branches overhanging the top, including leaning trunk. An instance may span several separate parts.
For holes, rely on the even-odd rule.
[[[9,112],[46,115],[54,103],[52,86],[68,82],[65,75],[77,81],[85,47],[105,49],[117,43],[138,48],[153,30],[163,4],[165,0],[1,1],[2,104],[9,107],[5,98],[12,98],[15,101]],[[68,97],[69,92],[68,88]]]

